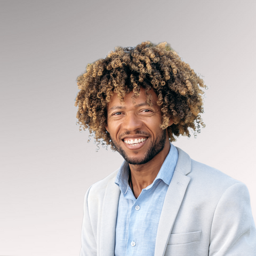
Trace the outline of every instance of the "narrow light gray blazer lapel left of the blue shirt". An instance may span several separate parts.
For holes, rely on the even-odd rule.
[[[115,178],[108,182],[103,199],[100,228],[101,256],[113,256],[115,251],[116,218],[120,189],[115,184]]]

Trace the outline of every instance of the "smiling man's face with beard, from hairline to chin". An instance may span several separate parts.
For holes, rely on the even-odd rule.
[[[152,106],[147,105],[143,89],[137,99],[133,92],[127,94],[123,103],[115,93],[108,104],[106,129],[116,150],[129,164],[145,164],[169,147],[167,131],[159,127],[162,112],[156,104],[157,95],[153,89],[149,93]]]

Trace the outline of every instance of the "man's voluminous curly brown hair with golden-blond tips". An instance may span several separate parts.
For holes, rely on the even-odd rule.
[[[157,105],[161,107],[163,122],[160,125],[175,141],[179,135],[190,137],[205,126],[199,113],[203,113],[205,88],[190,66],[166,42],[154,45],[142,42],[135,47],[116,47],[105,59],[88,64],[86,73],[77,78],[79,92],[75,106],[78,106],[77,124],[79,130],[89,129],[95,141],[110,145],[115,150],[107,124],[107,105],[111,95],[117,93],[120,101],[126,94],[134,92],[137,98],[140,88],[146,93],[153,88],[158,96]],[[150,105],[150,99],[147,99]],[[170,118],[173,124],[168,126]]]

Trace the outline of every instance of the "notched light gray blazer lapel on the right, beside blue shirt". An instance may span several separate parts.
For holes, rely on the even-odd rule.
[[[186,176],[191,170],[191,159],[181,149],[179,151],[178,163],[164,199],[164,205],[159,219],[155,256],[163,256],[167,242],[179,212],[181,203],[186,193],[190,178]]]

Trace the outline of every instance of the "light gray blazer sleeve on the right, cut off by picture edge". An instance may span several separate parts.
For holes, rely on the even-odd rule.
[[[250,196],[243,183],[235,183],[215,209],[209,256],[256,256],[256,230]]]

